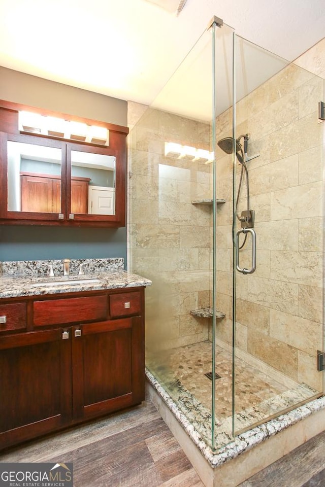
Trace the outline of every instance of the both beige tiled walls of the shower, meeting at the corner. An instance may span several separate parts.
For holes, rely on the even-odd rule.
[[[325,73],[325,42],[298,61]],[[297,61],[297,63],[298,63]],[[272,367],[322,389],[316,371],[323,347],[323,81],[291,64],[237,103],[237,134],[250,132],[248,162],[255,210],[257,268],[237,273],[236,342]],[[206,319],[190,309],[211,304],[210,165],[164,156],[164,142],[210,149],[208,124],[128,103],[129,263],[149,277],[149,347],[208,338]],[[218,139],[231,135],[231,110],[217,119]],[[217,150],[217,336],[232,342],[232,156]],[[237,186],[240,166],[237,167]],[[239,212],[246,208],[243,186]],[[240,253],[249,266],[250,247]],[[163,323],[163,326],[161,326]],[[211,330],[210,330],[211,336]]]

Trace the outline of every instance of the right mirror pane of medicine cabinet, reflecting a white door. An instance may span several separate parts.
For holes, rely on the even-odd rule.
[[[71,151],[71,213],[115,215],[113,156]]]

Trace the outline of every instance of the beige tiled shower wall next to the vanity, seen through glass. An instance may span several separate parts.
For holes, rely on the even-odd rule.
[[[210,150],[209,124],[128,103],[129,267],[146,289],[146,343],[153,351],[208,339],[211,164],[165,157],[165,142]]]

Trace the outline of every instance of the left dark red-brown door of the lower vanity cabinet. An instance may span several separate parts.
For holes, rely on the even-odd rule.
[[[71,340],[62,331],[0,337],[0,448],[71,421]]]

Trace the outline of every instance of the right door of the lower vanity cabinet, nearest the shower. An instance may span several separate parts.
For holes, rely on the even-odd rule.
[[[74,327],[74,419],[144,400],[144,327],[140,317]]]

